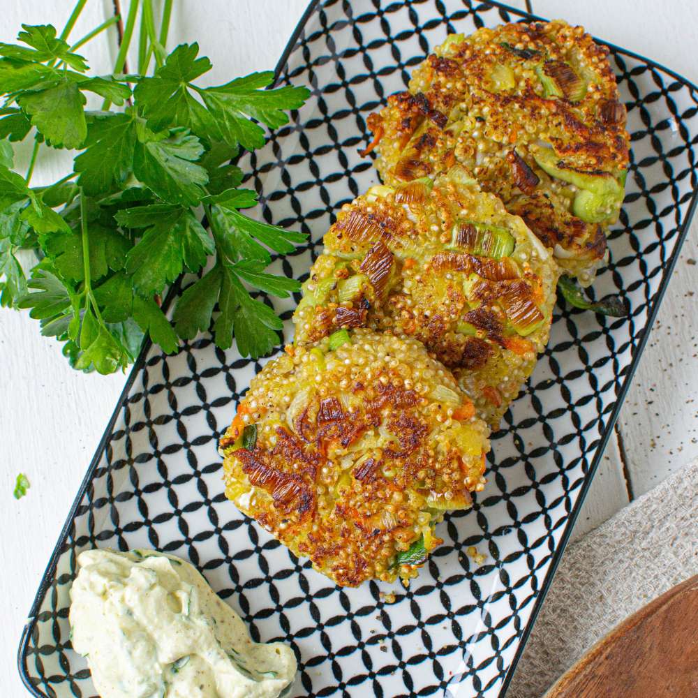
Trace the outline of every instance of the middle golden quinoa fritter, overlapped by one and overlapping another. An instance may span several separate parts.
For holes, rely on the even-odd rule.
[[[493,426],[547,343],[557,267],[460,165],[345,205],[293,320],[295,343],[341,328],[413,336]]]

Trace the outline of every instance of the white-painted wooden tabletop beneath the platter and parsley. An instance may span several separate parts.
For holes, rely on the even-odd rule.
[[[353,0],[355,6],[369,0]],[[515,6],[525,3],[512,0]],[[5,0],[0,40],[11,41],[22,22],[62,27],[73,3]],[[595,36],[639,52],[698,82],[695,0],[533,0],[543,17],[584,24]],[[156,1],[155,5],[158,5]],[[126,12],[128,0],[121,1]],[[198,40],[214,64],[212,81],[273,68],[306,0],[179,0],[174,3],[170,47]],[[112,0],[89,0],[75,38],[113,12]],[[135,45],[135,42],[134,42]],[[115,33],[85,47],[91,66],[111,72]],[[28,160],[28,154],[21,154]],[[66,154],[67,156],[67,154]],[[38,164],[33,184],[54,181],[66,158]],[[698,221],[634,376],[617,438],[607,447],[575,535],[598,526],[628,501],[655,487],[698,456]],[[76,373],[59,346],[39,335],[26,313],[0,310],[0,694],[26,695],[15,669],[25,615],[84,470],[117,402],[125,376]],[[27,473],[26,498],[12,496],[18,472]]]

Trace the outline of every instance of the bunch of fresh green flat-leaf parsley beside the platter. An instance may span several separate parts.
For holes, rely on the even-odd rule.
[[[288,253],[304,235],[248,218],[254,191],[227,164],[241,148],[265,143],[265,130],[288,122],[304,87],[265,89],[273,73],[217,87],[196,80],[211,70],[199,47],[164,49],[171,0],[159,36],[151,0],[134,0],[112,75],[87,73],[76,52],[117,21],[70,46],[66,29],[23,25],[17,44],[0,43],[0,304],[30,309],[41,332],[64,343],[76,369],[111,373],[133,362],[148,334],[165,352],[208,329],[225,349],[264,355],[281,320],[248,292],[287,297],[297,282],[265,272],[270,251]],[[140,16],[138,74],[124,74]],[[148,76],[151,58],[154,74]],[[104,99],[86,110],[86,94]],[[118,109],[111,109],[112,104]],[[34,138],[26,176],[13,171],[13,142]],[[30,186],[40,147],[76,149],[73,172],[51,186]],[[205,211],[209,230],[196,213]],[[40,261],[25,272],[17,251]],[[211,260],[213,258],[213,260]],[[186,289],[172,322],[159,299],[185,271],[209,271]],[[27,278],[28,277],[28,278]]]

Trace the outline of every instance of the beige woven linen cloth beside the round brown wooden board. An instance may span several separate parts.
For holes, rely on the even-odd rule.
[[[507,698],[540,698],[609,630],[694,574],[698,461],[565,551]]]

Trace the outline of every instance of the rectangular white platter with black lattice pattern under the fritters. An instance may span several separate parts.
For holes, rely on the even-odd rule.
[[[365,119],[403,89],[430,48],[447,32],[526,17],[469,0],[311,4],[278,74],[281,83],[308,84],[313,97],[241,163],[252,172],[247,186],[264,197],[264,218],[311,236],[275,260],[276,271],[304,278],[334,213],[376,184],[370,161],[357,152],[369,140]],[[94,546],[154,547],[198,565],[254,639],[293,646],[293,696],[503,695],[695,207],[697,88],[616,47],[611,64],[628,107],[632,164],[611,261],[594,290],[620,292],[631,314],[556,309],[549,348],[493,435],[487,488],[472,511],[441,524],[446,542],[410,588],[338,588],[225,500],[216,442],[263,361],[218,350],[209,335],[172,357],[147,346],[24,629],[20,673],[33,695],[94,695],[68,634],[75,558]],[[274,306],[290,318],[292,303]],[[470,546],[484,563],[466,554]],[[385,597],[390,591],[394,603]]]

